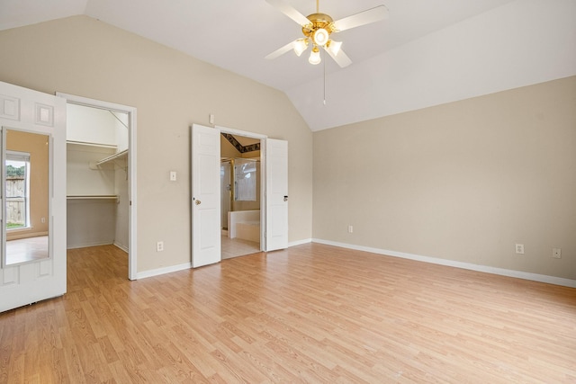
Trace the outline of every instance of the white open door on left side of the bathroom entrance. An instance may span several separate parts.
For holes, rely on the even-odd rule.
[[[220,262],[220,129],[192,126],[192,266]]]

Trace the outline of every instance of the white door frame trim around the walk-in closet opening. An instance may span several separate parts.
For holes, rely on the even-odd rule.
[[[128,279],[138,279],[138,253],[137,253],[137,191],[136,186],[136,113],[135,107],[122,105],[117,103],[103,102],[101,100],[90,99],[75,94],[64,94],[61,92],[56,93],[57,96],[66,99],[67,103],[83,105],[85,107],[99,108],[112,112],[128,113],[128,199],[129,199],[129,212],[128,212]]]

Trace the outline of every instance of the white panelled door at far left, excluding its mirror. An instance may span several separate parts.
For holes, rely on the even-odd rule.
[[[49,135],[49,254],[0,268],[0,312],[66,293],[66,100],[0,82],[0,125]],[[5,191],[2,191],[4,204]],[[5,223],[2,222],[2,226]],[[5,232],[5,231],[4,231]],[[5,249],[4,238],[2,239]]]

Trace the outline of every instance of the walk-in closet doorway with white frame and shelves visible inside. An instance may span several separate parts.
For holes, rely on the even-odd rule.
[[[67,99],[67,248],[117,246],[136,270],[136,109]]]

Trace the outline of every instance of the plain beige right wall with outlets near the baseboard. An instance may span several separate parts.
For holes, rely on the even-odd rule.
[[[314,238],[576,279],[576,77],[313,136]]]

